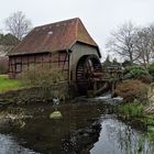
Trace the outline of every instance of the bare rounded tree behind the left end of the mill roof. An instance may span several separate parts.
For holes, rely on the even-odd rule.
[[[14,12],[8,19],[6,19],[7,30],[22,40],[31,30],[31,21],[25,18],[22,11]]]

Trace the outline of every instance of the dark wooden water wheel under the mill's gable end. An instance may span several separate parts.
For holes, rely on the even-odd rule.
[[[76,68],[76,81],[81,95],[102,88],[105,82],[100,82],[101,76],[101,63],[96,55],[85,55],[79,59]]]

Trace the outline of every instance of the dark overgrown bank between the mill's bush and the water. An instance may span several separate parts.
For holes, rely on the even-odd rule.
[[[53,98],[58,97],[62,101],[70,99],[67,82],[46,85],[44,87],[29,87],[18,90],[10,90],[0,94],[0,102],[26,105],[37,102],[51,102]]]

